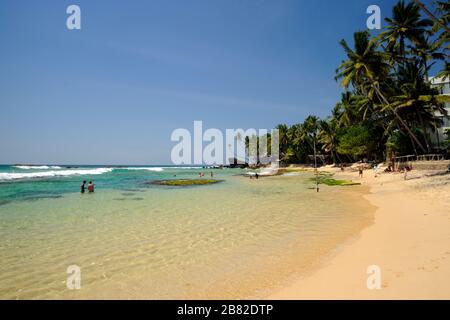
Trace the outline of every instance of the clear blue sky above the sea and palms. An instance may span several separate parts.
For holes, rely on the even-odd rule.
[[[168,164],[176,128],[328,115],[338,41],[396,1],[0,2],[0,163]],[[82,29],[66,28],[81,7]]]

